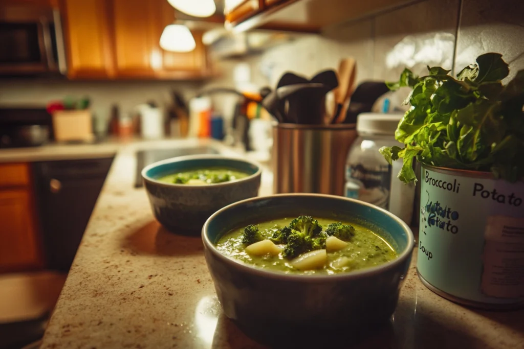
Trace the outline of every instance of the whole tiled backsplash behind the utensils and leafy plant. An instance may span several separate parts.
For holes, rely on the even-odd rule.
[[[404,67],[418,74],[426,65],[459,72],[493,51],[503,54],[515,74],[524,69],[523,14],[521,0],[426,0],[276,47],[252,61],[252,68],[266,72],[259,85],[274,87],[287,70],[311,76],[352,56],[357,82],[396,80]],[[392,95],[392,105],[405,95]]]

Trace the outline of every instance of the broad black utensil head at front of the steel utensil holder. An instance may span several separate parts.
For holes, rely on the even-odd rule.
[[[289,103],[288,122],[320,125],[325,115],[325,94],[330,91],[324,84],[297,84],[277,89],[277,99]]]

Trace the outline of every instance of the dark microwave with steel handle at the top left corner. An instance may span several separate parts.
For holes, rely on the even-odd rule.
[[[65,74],[58,9],[0,5],[0,75]]]

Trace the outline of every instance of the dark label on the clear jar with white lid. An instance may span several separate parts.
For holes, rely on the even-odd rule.
[[[354,184],[358,185],[359,200],[388,209],[391,165],[380,165],[373,169],[362,164],[350,165],[347,167],[347,177],[353,179]]]

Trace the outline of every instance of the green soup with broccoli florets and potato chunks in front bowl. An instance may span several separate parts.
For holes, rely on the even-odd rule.
[[[395,249],[357,223],[310,216],[274,219],[220,238],[224,255],[285,273],[336,274],[394,260]]]

